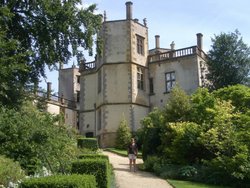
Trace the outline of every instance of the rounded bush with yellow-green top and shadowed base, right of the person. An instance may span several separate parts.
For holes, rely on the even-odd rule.
[[[192,164],[207,156],[198,141],[201,127],[193,122],[170,123],[161,136],[164,156],[177,164]]]

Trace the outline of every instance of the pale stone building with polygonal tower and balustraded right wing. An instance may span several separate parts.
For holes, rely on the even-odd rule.
[[[161,48],[156,35],[155,48],[149,50],[146,20],[133,19],[132,2],[127,2],[126,19],[107,21],[104,16],[99,36],[102,54],[79,68],[79,130],[97,137],[101,147],[114,145],[123,118],[136,131],[154,107],[164,106],[176,83],[187,93],[202,85],[205,53],[200,33],[197,45],[182,49],[175,49],[174,42]]]

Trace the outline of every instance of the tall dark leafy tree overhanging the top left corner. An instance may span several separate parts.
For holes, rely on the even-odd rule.
[[[79,8],[83,6],[81,2],[0,1],[0,61],[3,68],[0,74],[15,73],[11,82],[1,80],[0,93],[4,91],[2,88],[15,88],[16,81],[20,83],[16,93],[22,91],[24,85],[37,84],[41,76],[46,76],[46,65],[55,69],[72,56],[80,59],[82,50],[88,50],[92,55],[93,44],[99,41],[96,33],[102,16],[94,14],[96,5]],[[8,92],[2,96],[12,97]]]

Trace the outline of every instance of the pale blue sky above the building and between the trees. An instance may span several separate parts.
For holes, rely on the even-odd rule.
[[[126,0],[83,0],[83,6],[97,4],[97,13],[106,11],[107,21],[126,19]],[[220,33],[241,33],[243,42],[250,46],[249,0],[131,0],[133,19],[147,19],[149,49],[155,47],[155,35],[160,35],[160,47],[175,49],[196,45],[196,34],[203,34],[203,50],[211,49],[211,38]],[[93,57],[86,60],[92,61]],[[72,60],[66,67],[71,67]],[[77,64],[74,62],[74,64]],[[46,71],[47,79],[41,79],[40,87],[52,82],[52,90],[58,91],[58,72]]]

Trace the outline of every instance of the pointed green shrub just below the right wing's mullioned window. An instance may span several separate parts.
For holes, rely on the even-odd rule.
[[[175,86],[164,109],[166,121],[177,122],[187,120],[190,113],[189,96],[179,86]]]

